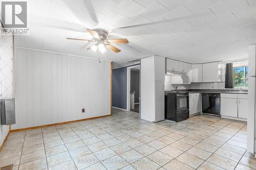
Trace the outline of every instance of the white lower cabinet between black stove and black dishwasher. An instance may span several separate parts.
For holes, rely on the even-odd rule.
[[[189,115],[199,113],[201,111],[200,93],[189,94]]]

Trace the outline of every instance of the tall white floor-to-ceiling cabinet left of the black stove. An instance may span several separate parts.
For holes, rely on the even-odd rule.
[[[141,59],[141,118],[150,122],[164,120],[165,58]]]

